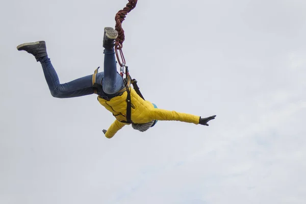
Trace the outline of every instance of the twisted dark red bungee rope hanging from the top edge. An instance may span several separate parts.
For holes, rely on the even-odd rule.
[[[121,67],[123,66],[123,64],[125,64],[125,59],[124,59],[124,55],[123,55],[123,52],[122,52],[122,47],[123,47],[122,44],[125,40],[124,30],[122,29],[122,22],[125,19],[127,13],[129,13],[130,11],[132,11],[136,7],[136,4],[137,4],[137,0],[129,0],[129,3],[126,4],[126,7],[124,7],[122,10],[118,11],[118,13],[115,16],[115,20],[116,20],[115,30],[118,31],[118,37],[116,39],[115,52],[116,52],[118,63]],[[121,60],[119,58],[118,50],[120,52]]]

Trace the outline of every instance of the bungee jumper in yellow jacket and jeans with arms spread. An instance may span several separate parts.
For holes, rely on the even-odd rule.
[[[99,103],[110,111],[116,120],[108,130],[103,130],[107,138],[112,138],[124,125],[132,124],[133,129],[145,132],[159,120],[182,121],[209,126],[208,122],[216,115],[201,118],[200,116],[168,111],[157,108],[148,100],[144,100],[131,86],[126,86],[122,75],[117,72],[115,59],[115,39],[118,32],[111,27],[104,29],[104,71],[87,75],[71,82],[60,84],[46,50],[45,41],[23,43],[17,46],[32,54],[41,63],[44,77],[50,93],[57,98],[79,97],[97,94]],[[97,82],[97,83],[94,83]],[[128,83],[131,84],[131,81]],[[97,88],[97,86],[101,88]],[[127,97],[130,96],[130,100]],[[131,103],[130,111],[127,108]]]

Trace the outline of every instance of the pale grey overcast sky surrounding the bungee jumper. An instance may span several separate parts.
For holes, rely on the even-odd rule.
[[[127,1],[0,5],[0,203],[306,203],[306,1],[139,0],[124,55],[144,97],[210,126],[125,126],[96,95],[50,94],[16,46],[45,40],[61,83],[103,67]]]

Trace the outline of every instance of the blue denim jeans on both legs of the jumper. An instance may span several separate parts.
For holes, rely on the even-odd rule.
[[[60,84],[60,80],[50,59],[44,57],[40,60],[40,63],[52,96],[57,98],[70,98],[94,93],[92,75]],[[102,84],[103,91],[109,98],[115,97],[116,93],[124,88],[123,79],[117,72],[114,49],[104,50],[104,71],[97,73],[96,82]]]

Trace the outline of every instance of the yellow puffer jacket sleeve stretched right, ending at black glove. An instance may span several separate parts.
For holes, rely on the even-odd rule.
[[[163,109],[154,109],[151,111],[151,117],[154,120],[176,120],[182,122],[189,122],[194,124],[199,124],[200,116],[179,113],[176,111],[168,111]]]

